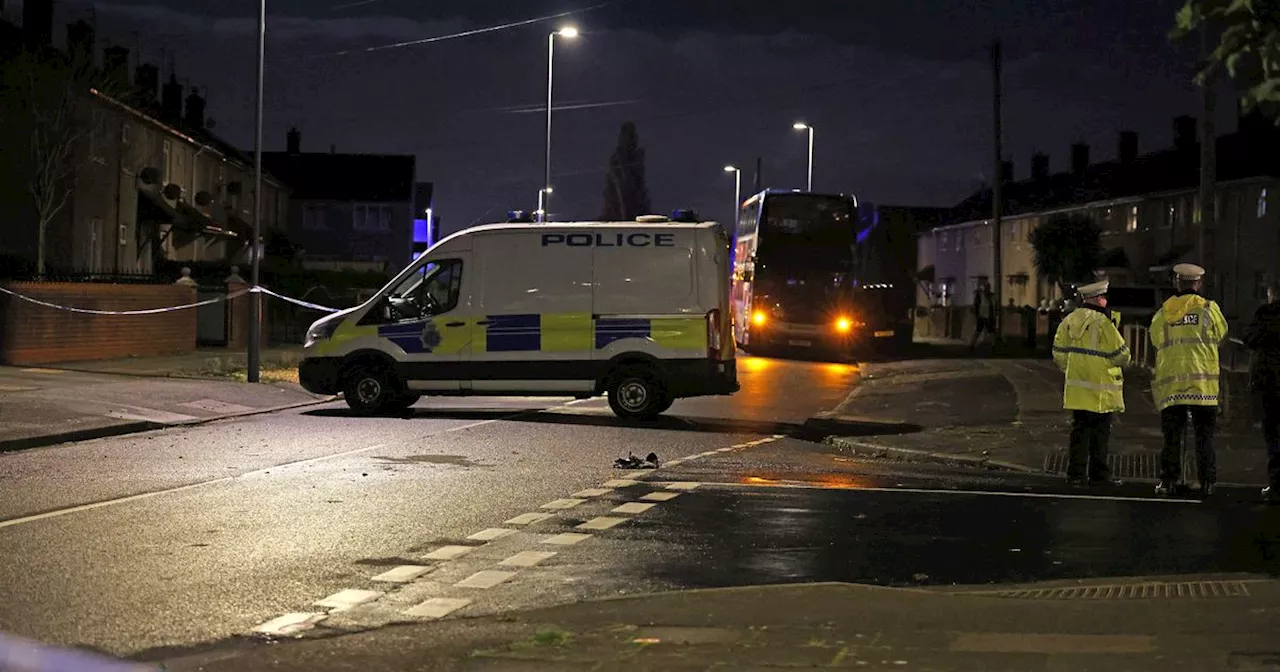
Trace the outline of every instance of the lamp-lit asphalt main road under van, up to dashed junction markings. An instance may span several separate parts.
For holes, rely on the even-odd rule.
[[[398,419],[330,404],[3,454],[0,631],[125,655],[244,635],[477,544],[628,452],[678,460],[792,429],[837,406],[856,367],[744,358],[740,375],[744,392],[653,425],[600,399],[428,399]]]

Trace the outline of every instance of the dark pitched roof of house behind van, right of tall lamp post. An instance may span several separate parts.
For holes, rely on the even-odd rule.
[[[262,152],[262,166],[303,200],[412,201],[416,165],[398,154]]]

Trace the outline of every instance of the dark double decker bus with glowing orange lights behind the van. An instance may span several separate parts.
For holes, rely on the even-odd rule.
[[[858,282],[858,198],[765,189],[733,230],[733,334],[742,349],[844,355],[901,344],[884,287]],[[906,334],[910,340],[910,333]]]

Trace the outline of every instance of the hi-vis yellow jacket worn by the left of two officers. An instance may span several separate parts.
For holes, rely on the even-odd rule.
[[[1062,408],[1124,411],[1124,365],[1129,346],[1111,315],[1093,306],[1073,310],[1053,334],[1053,361],[1066,372]]]

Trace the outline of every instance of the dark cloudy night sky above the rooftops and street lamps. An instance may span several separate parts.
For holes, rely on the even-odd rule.
[[[547,35],[556,60],[557,219],[598,216],[622,122],[648,152],[654,209],[724,219],[726,163],[756,156],[764,184],[952,205],[991,173],[988,44],[1006,55],[1006,152],[1065,169],[1069,145],[1142,151],[1196,114],[1194,51],[1166,38],[1180,0],[621,0],[568,18],[430,44],[365,47],[547,17],[605,0],[269,0],[266,150],[291,125],[303,151],[416,154],[445,230],[532,210],[543,173]],[[79,12],[67,1],[60,20]],[[209,88],[215,132],[252,147],[252,0],[96,3],[101,41]],[[61,29],[55,33],[61,33]],[[338,55],[349,50],[351,52]],[[561,108],[564,109],[561,109]],[[1230,118],[1229,111],[1224,116]]]

